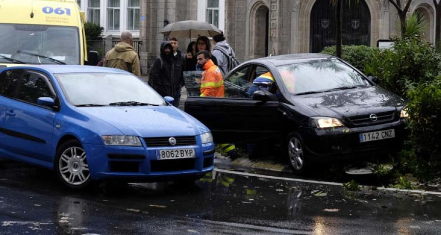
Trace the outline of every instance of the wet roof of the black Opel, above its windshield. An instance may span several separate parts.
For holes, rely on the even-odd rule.
[[[301,63],[311,60],[322,60],[334,58],[332,55],[319,54],[319,53],[300,53],[300,54],[289,54],[289,55],[277,55],[277,56],[267,56],[263,58],[258,58],[248,61],[249,63],[268,63],[270,62],[274,66],[289,65],[295,63]]]

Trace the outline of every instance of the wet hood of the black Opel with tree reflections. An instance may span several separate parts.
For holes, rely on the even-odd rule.
[[[404,100],[378,86],[318,94],[292,95],[294,105],[303,106],[315,114],[344,118],[365,114],[395,111],[404,105]]]

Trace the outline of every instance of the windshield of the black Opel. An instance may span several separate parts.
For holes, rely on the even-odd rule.
[[[283,65],[277,69],[291,94],[369,85],[360,73],[337,59]]]

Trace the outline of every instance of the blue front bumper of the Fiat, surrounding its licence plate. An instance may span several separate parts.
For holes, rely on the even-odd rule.
[[[198,141],[199,142],[199,141]],[[94,180],[158,182],[199,176],[214,168],[214,143],[172,147],[83,144]],[[194,148],[196,158],[157,160],[156,150]]]

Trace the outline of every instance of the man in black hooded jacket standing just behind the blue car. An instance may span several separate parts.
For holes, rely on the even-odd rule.
[[[172,96],[173,105],[179,107],[181,88],[184,86],[183,59],[173,56],[173,47],[169,42],[161,43],[161,55],[153,62],[149,79],[149,84],[156,92],[162,96]]]

